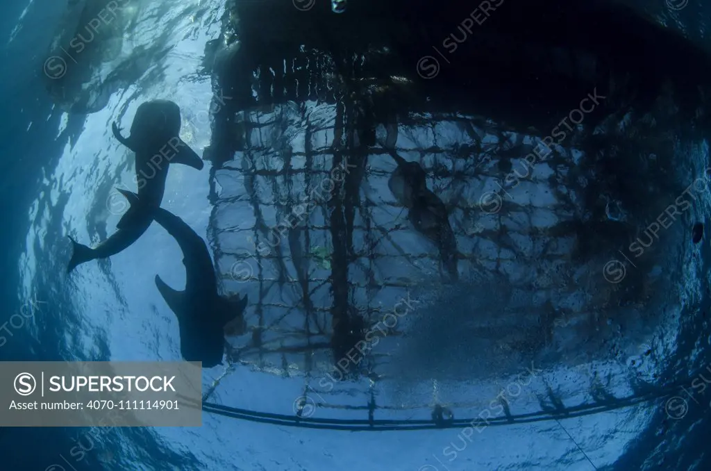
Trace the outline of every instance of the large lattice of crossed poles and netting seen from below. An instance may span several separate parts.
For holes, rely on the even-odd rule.
[[[250,300],[231,369],[284,380],[299,417],[513,423],[668,391],[709,210],[673,83],[640,107],[608,70],[521,126],[422,97],[387,45],[230,47],[249,73],[216,75],[208,154],[218,272]]]

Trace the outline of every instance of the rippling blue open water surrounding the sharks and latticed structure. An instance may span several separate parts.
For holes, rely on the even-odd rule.
[[[338,12],[345,4],[331,3]],[[65,14],[66,2],[32,0],[0,6],[0,322],[5,323],[5,332],[10,332],[3,337],[4,342],[0,341],[0,361],[177,361],[181,357],[175,315],[156,290],[154,277],[158,274],[168,285],[180,287],[186,276],[178,245],[161,227],[152,224],[136,243],[109,260],[94,260],[80,265],[71,275],[66,273],[72,250],[67,236],[88,245],[104,240],[114,231],[120,216],[112,212],[112,188],[132,184],[133,167],[127,164],[132,154],[114,139],[110,126],[114,120],[127,132],[140,102],[169,99],[180,105],[183,122],[189,125],[181,137],[199,155],[210,142],[207,117],[214,111],[214,105],[210,105],[213,86],[210,75],[198,71],[203,66],[206,43],[220,35],[225,5],[219,1],[146,0],[142,7],[146,9],[141,13],[143,28],[136,30],[135,36],[124,36],[120,47],[150,45],[152,49],[141,56],[148,58],[146,67],[137,75],[127,71],[125,82],[105,78],[107,90],[97,99],[101,106],[97,105],[95,112],[80,114],[65,112],[59,100],[47,92],[46,77],[42,76],[47,46]],[[690,36],[703,40],[703,33],[693,31]],[[314,111],[316,121],[317,115],[319,111]],[[689,168],[708,166],[707,142],[692,147],[676,152],[686,152],[688,159],[684,162],[693,162]],[[235,164],[230,170],[239,167]],[[686,166],[684,170],[688,170]],[[215,176],[210,162],[205,162],[202,170],[176,165],[171,167],[166,183],[162,207],[186,221],[210,248],[214,245],[210,231],[218,206],[211,185],[220,186],[225,194],[235,191],[235,201],[245,206],[248,201],[244,190],[247,184],[242,186],[240,180],[235,190],[237,185],[230,186],[232,177],[225,175]],[[387,189],[386,185],[382,187]],[[242,210],[226,204],[220,211],[242,216]],[[397,216],[397,212],[393,214]],[[708,205],[698,213],[700,218],[707,216]],[[237,221],[235,226],[241,223]],[[697,371],[711,365],[706,354],[710,332],[705,317],[709,280],[704,270],[711,260],[711,249],[707,239],[703,244],[695,253],[697,265],[679,271],[695,281],[685,282],[685,289],[678,295],[683,301],[674,301],[667,309],[678,309],[682,319],[695,316],[698,322],[679,320],[674,324],[678,335],[656,344],[669,354],[661,362],[665,371],[673,371],[666,378],[668,383],[690,381]],[[407,248],[407,244],[403,246]],[[235,291],[240,292],[241,286],[237,285]],[[427,287],[423,289],[427,291]],[[483,296],[495,296],[497,290],[476,289]],[[431,302],[427,312],[434,315],[438,309],[470,309],[472,301],[466,293],[471,290],[463,291],[464,295],[455,293],[439,307]],[[250,300],[254,299],[256,291],[250,291]],[[33,306],[32,315],[18,317],[16,314],[28,312],[28,305]],[[486,309],[484,303],[481,309]],[[250,310],[250,316],[256,315]],[[399,416],[386,411],[385,418],[429,419],[429,409],[408,408],[420,403],[431,405],[432,388],[439,391],[437,381],[435,386],[432,381],[422,381],[425,372],[447,374],[451,364],[462,361],[466,364],[462,369],[475,376],[495,363],[483,359],[486,352],[466,346],[427,354],[429,346],[436,349],[448,342],[456,344],[468,333],[459,331],[459,319],[454,316],[438,325],[418,319],[420,323],[415,322],[413,328],[427,331],[429,337],[408,337],[420,347],[421,354],[413,354],[408,360],[416,359],[417,366],[402,366],[392,360],[390,374],[402,372],[405,377],[405,370],[414,373],[392,390],[379,393],[380,401],[400,408]],[[524,327],[514,323],[511,329]],[[407,348],[413,345],[406,340],[402,344]],[[633,356],[629,354],[629,358]],[[203,371],[203,391],[213,386],[223,370],[216,367]],[[247,366],[232,369],[210,400],[293,416],[294,400],[303,391],[303,380],[285,377],[289,375],[283,371],[270,374],[264,372],[266,368],[257,370]],[[456,370],[461,372],[459,366]],[[567,382],[573,382],[568,381],[570,371],[562,366],[551,366],[547,374],[564,390]],[[324,374],[314,375],[314,383],[323,378]],[[616,381],[612,383],[616,385]],[[451,397],[481,393],[491,398],[507,384],[512,383],[502,375],[491,384],[455,386],[447,393]],[[539,386],[545,390],[542,383]],[[616,391],[619,396],[632,393],[627,386],[619,386]],[[358,393],[343,388],[335,399],[328,396],[325,402],[342,407],[328,409],[326,417],[367,418],[367,402],[360,401],[365,392]],[[707,443],[711,437],[711,396],[691,396],[685,399],[688,413],[678,420],[668,417],[667,399],[657,398],[583,417],[486,427],[474,432],[473,440],[465,439],[463,429],[456,428],[354,433],[257,423],[208,412],[203,413],[199,428],[0,428],[0,471],[710,470]],[[537,406],[538,399],[532,396],[530,403]],[[353,403],[360,408],[350,408]],[[463,416],[474,417],[477,411],[475,407]],[[393,415],[387,416],[391,412]],[[456,458],[451,458],[452,453]]]

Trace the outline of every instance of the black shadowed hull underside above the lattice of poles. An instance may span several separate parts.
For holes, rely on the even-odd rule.
[[[643,114],[670,85],[678,118],[705,125],[711,63],[677,33],[616,4],[482,4],[491,6],[488,16],[481,5],[454,1],[352,1],[343,15],[326,1],[309,11],[235,1],[216,43],[238,39],[242,47],[225,53],[215,72],[238,109],[362,97],[375,83],[390,85],[400,110],[469,112],[519,130],[555,126],[596,87]],[[393,85],[393,77],[408,83]]]

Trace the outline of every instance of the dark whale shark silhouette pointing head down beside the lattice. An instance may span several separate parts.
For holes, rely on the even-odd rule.
[[[201,361],[203,368],[217,366],[225,351],[225,327],[233,326],[234,334],[245,332],[247,295],[242,299],[239,295],[218,295],[215,268],[203,239],[185,221],[163,208],[156,210],[154,218],[183,251],[185,290],[173,290],[159,275],[155,278],[156,287],[178,318],[183,359]]]

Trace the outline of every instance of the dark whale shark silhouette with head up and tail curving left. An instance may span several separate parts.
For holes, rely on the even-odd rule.
[[[178,136],[180,127],[180,107],[169,100],[141,103],[129,137],[124,137],[113,123],[114,137],[136,154],[134,181],[138,194],[118,190],[129,201],[129,209],[117,223],[117,231],[97,247],[89,248],[70,237],[73,255],[68,272],[81,263],[116,255],[138,240],[151,225],[154,211],[161,206],[169,164],[203,169],[202,159]]]

